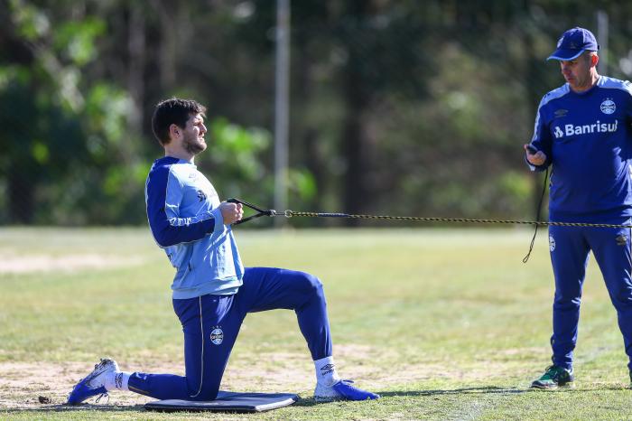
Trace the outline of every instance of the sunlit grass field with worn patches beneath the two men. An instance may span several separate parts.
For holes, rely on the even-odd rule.
[[[107,404],[65,407],[104,355],[123,370],[183,373],[172,268],[147,229],[0,229],[0,419],[632,418],[616,313],[592,261],[577,388],[528,389],[550,361],[542,233],[524,265],[523,229],[236,231],[246,266],[321,278],[340,374],[382,399],[316,404],[295,316],[274,311],[246,318],[222,388],[298,393],[292,407],[162,415],[116,392]]]

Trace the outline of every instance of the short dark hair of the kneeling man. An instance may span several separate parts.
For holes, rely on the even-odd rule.
[[[153,109],[152,130],[161,145],[167,145],[169,127],[176,125],[184,129],[191,115],[204,114],[206,107],[193,99],[170,98],[160,101]]]

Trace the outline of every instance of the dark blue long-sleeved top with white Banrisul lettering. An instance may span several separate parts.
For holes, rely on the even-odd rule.
[[[600,76],[577,93],[568,84],[544,95],[531,144],[553,165],[549,218],[599,222],[632,216],[632,85]]]

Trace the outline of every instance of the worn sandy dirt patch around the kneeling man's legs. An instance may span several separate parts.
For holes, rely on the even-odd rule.
[[[339,374],[345,379],[358,380],[358,386],[380,391],[424,380],[450,379],[475,384],[480,379],[502,376],[507,365],[472,363],[455,366],[442,362],[406,365],[396,356],[363,345],[336,345],[335,358]],[[151,359],[147,359],[151,360]],[[146,360],[144,360],[146,361]],[[183,362],[119,361],[121,370],[183,375]],[[385,368],[388,370],[385,370]],[[0,409],[33,409],[63,404],[70,389],[92,369],[82,362],[64,363],[0,363]],[[311,397],[314,368],[307,352],[275,352],[246,354],[231,358],[222,380],[224,390],[261,392],[293,392]],[[113,392],[110,407],[132,407],[153,400],[129,392]],[[42,402],[43,401],[43,402]],[[94,398],[89,400],[94,403]],[[105,403],[101,401],[99,404]]]

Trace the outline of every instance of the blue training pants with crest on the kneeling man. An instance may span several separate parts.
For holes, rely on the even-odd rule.
[[[212,400],[246,313],[293,310],[312,360],[331,355],[330,323],[321,281],[309,274],[246,267],[236,295],[173,300],[184,332],[186,376],[135,372],[129,389],[158,399]]]

